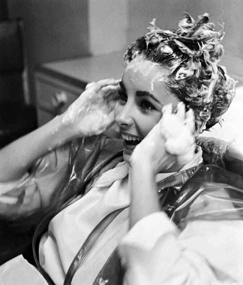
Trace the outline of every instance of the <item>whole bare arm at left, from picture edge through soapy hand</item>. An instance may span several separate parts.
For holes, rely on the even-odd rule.
[[[34,161],[72,139],[102,133],[114,121],[118,83],[92,83],[64,114],[1,149],[0,182],[21,178]]]

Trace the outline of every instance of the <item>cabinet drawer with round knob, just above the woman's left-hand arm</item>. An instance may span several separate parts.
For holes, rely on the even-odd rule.
[[[38,109],[45,110],[54,116],[63,113],[83,91],[80,89],[80,93],[72,93],[65,87],[41,81],[37,81],[36,85]]]

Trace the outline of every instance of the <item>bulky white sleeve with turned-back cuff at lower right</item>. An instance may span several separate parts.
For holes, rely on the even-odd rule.
[[[241,220],[193,221],[180,232],[153,213],[130,229],[119,253],[127,285],[243,284]]]

